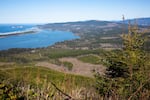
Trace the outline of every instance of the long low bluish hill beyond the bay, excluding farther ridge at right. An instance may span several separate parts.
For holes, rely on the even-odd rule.
[[[119,26],[120,23],[111,21],[98,21],[98,20],[88,20],[88,21],[77,21],[77,22],[64,22],[64,23],[48,23],[45,25],[38,25],[42,29],[52,29],[52,30],[85,30],[85,29],[102,29]]]

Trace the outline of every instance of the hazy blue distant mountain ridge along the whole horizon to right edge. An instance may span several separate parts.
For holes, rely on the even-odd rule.
[[[107,28],[107,27],[119,27],[122,24],[128,24],[129,21],[131,24],[135,23],[140,26],[150,26],[150,17],[148,18],[134,18],[134,19],[127,19],[125,21],[101,21],[101,20],[86,20],[86,21],[76,21],[76,22],[63,22],[63,23],[48,23],[45,25],[38,25],[39,28],[50,28],[50,29],[70,29],[70,28]]]

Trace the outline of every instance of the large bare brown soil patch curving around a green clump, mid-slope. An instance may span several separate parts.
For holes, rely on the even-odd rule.
[[[93,77],[93,72],[92,72],[93,70],[95,70],[96,72],[99,72],[100,74],[104,74],[105,69],[106,69],[102,65],[84,63],[84,62],[79,61],[76,58],[61,58],[59,60],[62,62],[64,61],[71,62],[73,64],[72,70],[69,71],[66,67],[58,66],[58,65],[51,64],[48,62],[38,62],[36,66],[43,66],[43,67],[51,68],[51,69],[61,71],[64,73],[77,74],[77,75],[88,76],[88,77]]]

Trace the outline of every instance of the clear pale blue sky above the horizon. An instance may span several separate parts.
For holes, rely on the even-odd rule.
[[[0,23],[150,17],[150,0],[0,0]]]

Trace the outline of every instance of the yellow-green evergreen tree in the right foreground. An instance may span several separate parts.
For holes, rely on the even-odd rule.
[[[111,51],[106,58],[105,76],[96,75],[97,90],[107,98],[149,99],[150,59],[143,50],[144,33],[129,23],[128,34],[122,39],[122,50]]]

